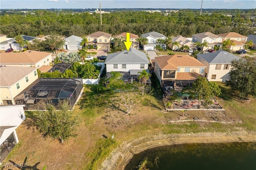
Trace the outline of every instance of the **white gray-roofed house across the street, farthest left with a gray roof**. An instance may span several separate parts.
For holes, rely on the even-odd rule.
[[[82,38],[78,37],[76,35],[71,35],[70,37],[67,37],[64,39],[65,40],[65,45],[64,49],[66,50],[78,50],[80,49],[80,44],[82,42]]]

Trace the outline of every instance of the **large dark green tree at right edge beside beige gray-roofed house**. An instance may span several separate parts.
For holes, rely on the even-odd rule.
[[[256,61],[253,58],[248,60],[239,59],[231,62],[230,80],[227,86],[239,92],[242,99],[249,95],[256,96]]]

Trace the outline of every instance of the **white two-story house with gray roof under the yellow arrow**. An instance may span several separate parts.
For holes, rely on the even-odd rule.
[[[123,75],[123,80],[130,81],[131,78],[138,78],[139,72],[148,70],[148,57],[146,53],[134,48],[129,51],[124,50],[117,53],[109,54],[105,60],[107,75],[110,77],[110,72],[120,72]],[[150,80],[149,80],[150,81]]]

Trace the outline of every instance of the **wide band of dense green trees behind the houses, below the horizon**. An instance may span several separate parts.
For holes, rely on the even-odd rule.
[[[236,11],[239,12],[239,11]],[[192,34],[210,31],[215,34],[237,32],[242,35],[254,33],[252,27],[255,19],[250,16],[256,10],[245,14],[228,16],[221,13],[204,13],[199,15],[197,10],[179,10],[170,13],[149,13],[143,11],[122,11],[102,14],[65,13],[47,10],[36,10],[35,14],[4,14],[1,15],[0,33],[8,37],[16,35],[76,35],[84,37],[96,31],[116,35],[130,32],[137,35],[156,31],[168,37],[182,35],[191,37]]]

